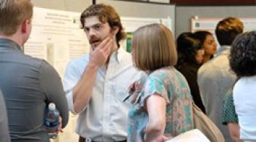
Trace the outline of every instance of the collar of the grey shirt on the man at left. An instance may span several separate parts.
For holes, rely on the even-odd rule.
[[[0,48],[18,50],[20,52],[23,52],[20,45],[10,39],[0,39]]]

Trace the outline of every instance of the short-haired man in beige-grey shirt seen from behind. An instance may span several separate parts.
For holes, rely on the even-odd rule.
[[[228,127],[222,125],[222,99],[236,80],[236,75],[230,71],[229,66],[230,44],[239,33],[242,33],[243,28],[243,23],[237,18],[228,17],[220,21],[215,33],[221,47],[217,51],[217,55],[203,64],[198,71],[198,85],[206,114],[220,128],[225,141],[232,140],[228,133]]]

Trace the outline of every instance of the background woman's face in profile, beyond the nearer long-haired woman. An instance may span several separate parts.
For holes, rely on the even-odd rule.
[[[196,31],[195,35],[203,44],[203,63],[211,60],[214,54],[217,52],[217,44],[215,42],[214,36],[209,31]]]

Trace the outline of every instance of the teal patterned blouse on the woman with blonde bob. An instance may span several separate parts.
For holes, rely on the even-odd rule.
[[[165,135],[176,136],[194,128],[193,98],[187,81],[174,67],[153,71],[144,82],[135,104],[128,114],[128,141],[144,141],[148,122],[144,100],[158,93],[166,100]]]

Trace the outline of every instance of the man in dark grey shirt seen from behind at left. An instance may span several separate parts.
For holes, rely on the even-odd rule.
[[[56,104],[62,127],[69,119],[60,76],[44,60],[23,53],[23,45],[31,33],[31,2],[4,0],[0,4],[0,88],[11,140],[50,141],[43,125],[47,103]]]

